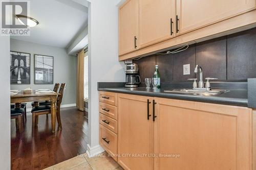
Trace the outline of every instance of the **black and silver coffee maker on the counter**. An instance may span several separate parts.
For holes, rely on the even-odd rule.
[[[126,83],[125,87],[138,87],[141,83],[140,76],[138,75],[137,64],[125,64]]]

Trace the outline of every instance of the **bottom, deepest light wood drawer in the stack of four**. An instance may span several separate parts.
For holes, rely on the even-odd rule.
[[[117,154],[117,135],[99,124],[99,143],[109,154]],[[117,157],[113,157],[117,160]]]

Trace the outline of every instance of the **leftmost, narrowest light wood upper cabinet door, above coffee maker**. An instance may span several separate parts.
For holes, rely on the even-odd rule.
[[[119,8],[119,55],[138,50],[139,1],[127,0]]]

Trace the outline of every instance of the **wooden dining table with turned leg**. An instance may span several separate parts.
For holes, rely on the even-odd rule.
[[[52,129],[51,132],[55,133],[55,122],[56,122],[56,101],[59,93],[54,91],[49,92],[38,92],[32,90],[31,93],[24,93],[23,90],[11,94],[11,103],[15,103],[16,106],[20,106],[23,102],[34,102],[34,101],[50,101],[51,102],[51,120]]]

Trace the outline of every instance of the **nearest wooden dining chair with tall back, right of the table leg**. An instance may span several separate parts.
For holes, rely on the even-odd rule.
[[[59,88],[59,95],[57,97],[56,102],[56,117],[58,122],[58,129],[62,129],[61,120],[60,120],[60,104],[62,102],[63,94],[66,90],[66,83],[61,83]],[[51,105],[42,105],[42,106],[35,106],[31,110],[32,113],[32,128],[38,125],[38,116],[42,114],[50,114],[51,113]]]

